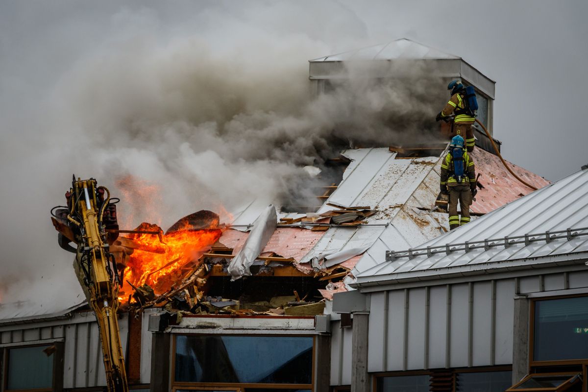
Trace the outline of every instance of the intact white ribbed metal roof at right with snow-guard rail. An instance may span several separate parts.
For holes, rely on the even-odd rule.
[[[396,249],[406,247],[387,250]],[[508,203],[418,249],[390,253],[388,261],[385,255],[385,249],[380,249],[377,264],[356,276],[358,287],[582,262],[588,258],[588,170]]]

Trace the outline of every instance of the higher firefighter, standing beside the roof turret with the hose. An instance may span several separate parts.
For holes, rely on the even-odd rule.
[[[455,114],[453,118],[453,135],[460,135],[462,138],[465,138],[467,152],[472,152],[476,144],[472,124],[476,118],[470,116],[466,110],[465,87],[460,81],[451,81],[447,85],[447,90],[450,90],[451,98],[435,119],[437,121],[447,121],[452,113]]]

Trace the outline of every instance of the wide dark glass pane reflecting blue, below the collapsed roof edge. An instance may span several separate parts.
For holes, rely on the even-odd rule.
[[[178,336],[175,380],[312,383],[312,337]]]

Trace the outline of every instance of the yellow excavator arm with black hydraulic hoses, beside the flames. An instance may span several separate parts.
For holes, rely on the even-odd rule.
[[[59,232],[59,245],[75,252],[76,269],[82,288],[98,321],[102,357],[109,392],[128,392],[125,361],[116,318],[121,279],[109,245],[116,239],[116,206],[110,193],[95,179],[73,178],[66,192],[67,206],[52,210]],[[113,235],[113,232],[116,234]],[[71,246],[74,242],[77,246]]]

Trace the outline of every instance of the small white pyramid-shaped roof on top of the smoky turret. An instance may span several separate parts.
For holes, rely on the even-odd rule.
[[[392,59],[460,59],[460,57],[407,38],[400,38],[380,45],[312,59],[310,62]]]

